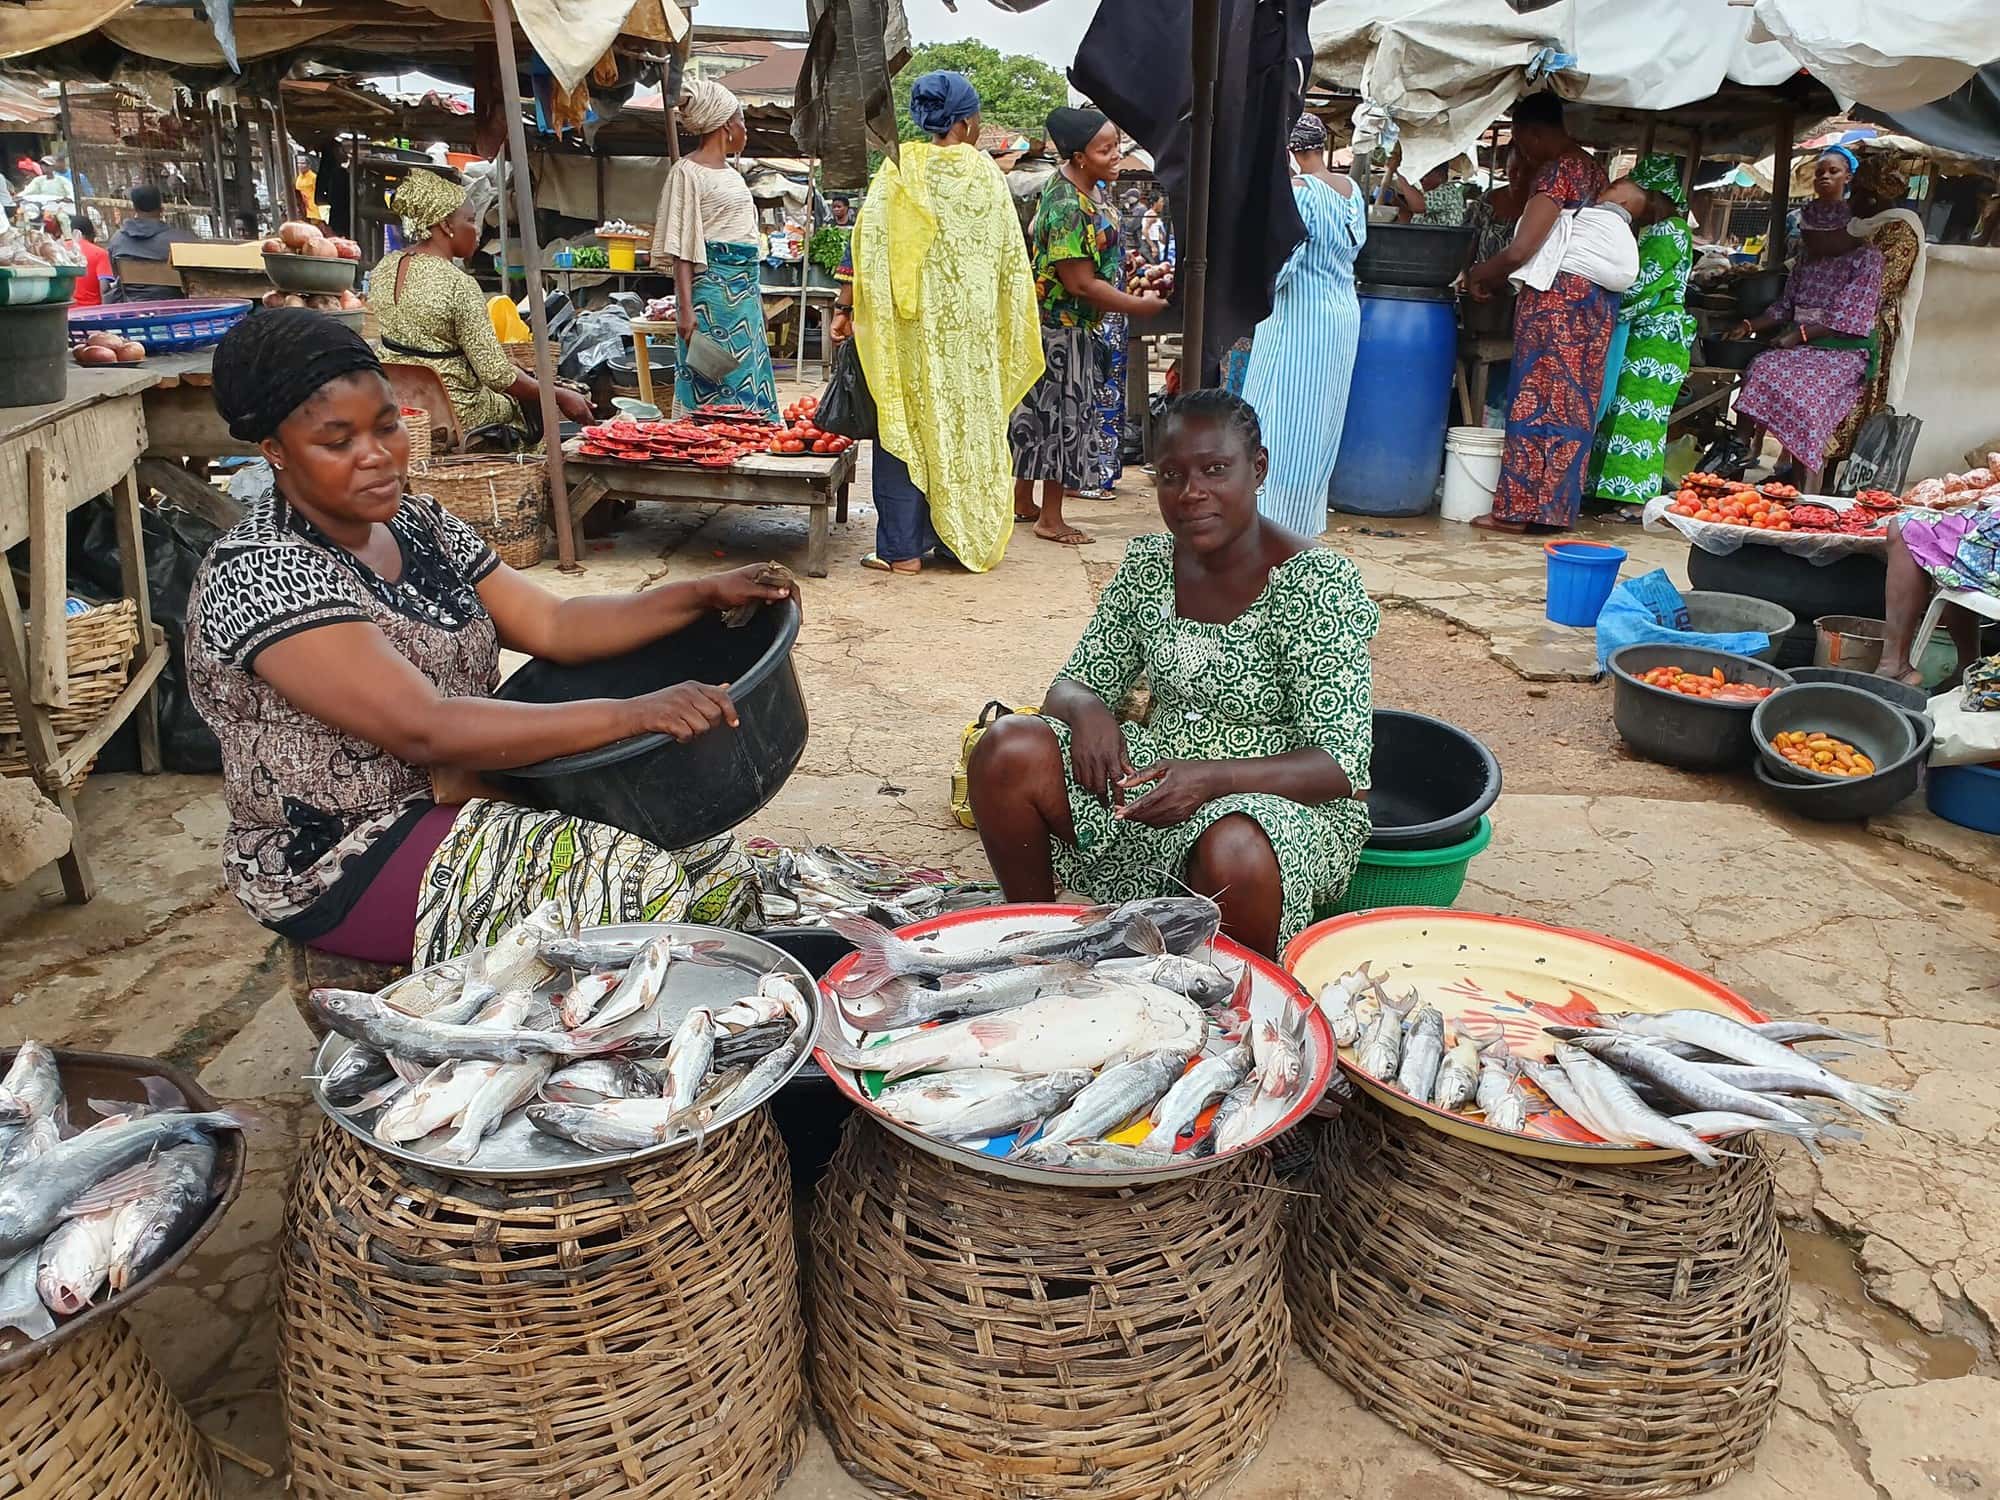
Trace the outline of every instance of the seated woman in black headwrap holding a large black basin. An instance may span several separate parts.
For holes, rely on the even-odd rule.
[[[728,836],[664,850],[466,794],[478,772],[632,734],[730,734],[718,684],[630,700],[494,698],[500,648],[590,662],[708,610],[778,600],[760,568],[556,598],[404,492],[410,436],[340,322],[260,312],[216,348],[216,408],[274,492],[210,550],[188,600],[190,690],[222,742],[236,898],[294,942],[378,964],[488,942],[554,898],[568,922],[744,926],[756,874]]]

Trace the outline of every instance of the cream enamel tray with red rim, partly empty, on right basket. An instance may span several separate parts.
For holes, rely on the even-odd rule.
[[[1460,1022],[1474,1034],[1500,1028],[1516,1058],[1552,1058],[1548,1026],[1590,1026],[1616,1010],[1712,1010],[1746,1024],[1764,1020],[1732,990],[1670,958],[1630,942],[1576,928],[1430,906],[1382,906],[1318,922],[1284,950],[1284,966],[1306,990],[1362,964],[1392,994],[1412,984],[1444,1012],[1448,1030]],[[1530,1112],[1524,1134],[1496,1130],[1478,1114],[1452,1114],[1404,1094],[1340,1050],[1340,1068],[1372,1098],[1398,1114],[1478,1146],[1554,1162],[1662,1162],[1680,1152],[1616,1146],[1584,1130],[1562,1110]],[[1532,1086],[1530,1098],[1540,1098]]]

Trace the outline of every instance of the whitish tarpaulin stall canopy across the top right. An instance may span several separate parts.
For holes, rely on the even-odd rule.
[[[1558,0],[1528,14],[1508,0],[1322,0],[1312,80],[1386,112],[1414,178],[1470,150],[1544,80],[1598,112],[1708,106],[1712,118],[1690,124],[1744,140],[1752,126],[1770,128],[1776,98],[1760,104],[1756,90],[1924,104],[1992,60],[1990,4],[1678,0],[1662,24],[1662,8],[1644,0]]]

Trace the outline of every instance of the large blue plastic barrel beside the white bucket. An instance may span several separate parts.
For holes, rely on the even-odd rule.
[[[1334,508],[1420,516],[1444,472],[1458,312],[1448,286],[1360,286],[1362,338],[1334,464]]]

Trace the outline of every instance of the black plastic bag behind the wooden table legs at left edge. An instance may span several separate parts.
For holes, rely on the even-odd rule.
[[[76,524],[82,522],[78,528]],[[78,530],[82,532],[78,536]],[[188,592],[194,570],[220,536],[200,516],[178,506],[140,510],[140,538],[146,550],[146,592],[152,622],[166,634],[168,660],[154,682],[152,700],[160,716],[162,770],[214,774],[222,770],[222,746],[214,730],[188,698]],[[92,500],[72,516],[70,578],[94,594],[120,598],[118,520],[108,500]],[[98,756],[98,770],[138,770],[138,728],[126,720]]]

